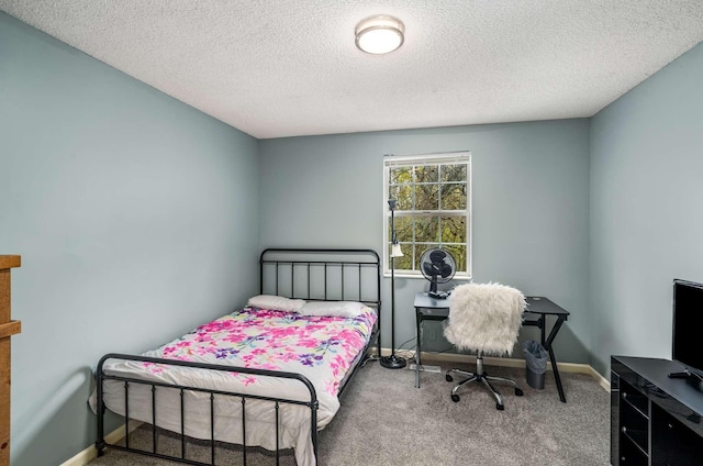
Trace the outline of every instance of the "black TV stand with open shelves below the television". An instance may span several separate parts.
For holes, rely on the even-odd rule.
[[[703,465],[700,386],[673,360],[612,356],[611,464]]]

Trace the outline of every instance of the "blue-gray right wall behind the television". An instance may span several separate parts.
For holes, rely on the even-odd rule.
[[[673,278],[703,281],[703,45],[592,119],[591,364],[671,357]]]

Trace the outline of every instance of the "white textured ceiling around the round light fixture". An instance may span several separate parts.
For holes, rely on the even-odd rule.
[[[259,138],[591,116],[703,41],[703,0],[0,0]],[[371,14],[405,23],[375,56]]]

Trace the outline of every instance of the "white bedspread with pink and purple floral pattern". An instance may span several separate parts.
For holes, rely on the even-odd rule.
[[[308,317],[245,308],[200,325],[150,356],[257,369],[308,373],[323,367],[324,390],[336,396],[339,382],[370,337],[376,313],[365,308],[356,318]],[[164,366],[146,364],[153,374]],[[245,386],[256,376],[232,373]]]

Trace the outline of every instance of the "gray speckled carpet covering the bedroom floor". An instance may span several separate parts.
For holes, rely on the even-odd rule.
[[[320,433],[320,464],[610,464],[610,396],[591,376],[561,373],[567,395],[567,403],[562,403],[551,373],[547,374],[545,389],[535,390],[525,382],[524,369],[487,366],[487,370],[515,378],[525,395],[516,397],[512,388],[498,386],[505,403],[505,410],[498,411],[489,392],[471,384],[459,391],[461,400],[455,403],[449,398],[453,384],[445,380],[444,373],[422,373],[421,388],[415,389],[411,370],[384,369],[375,362],[367,364],[346,388],[335,419]],[[150,431],[135,431],[131,442],[150,445]],[[159,445],[164,451],[180,452],[179,441],[168,433],[159,435]],[[189,457],[209,461],[209,448],[194,442],[187,451]],[[216,464],[241,464],[241,455],[236,446],[219,446]],[[108,450],[104,456],[90,463],[91,466],[175,464],[179,463],[116,450]],[[274,464],[270,453],[247,451],[247,465]],[[283,452],[281,464],[295,464],[292,452]]]

